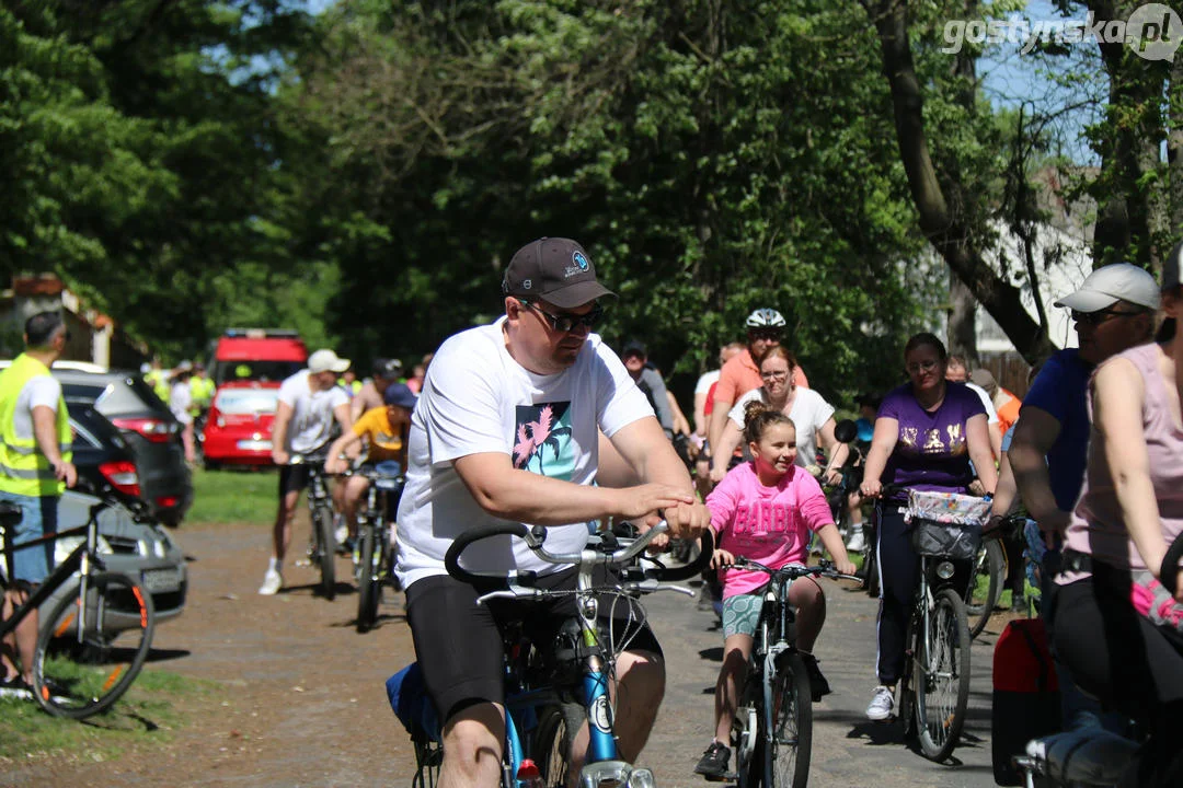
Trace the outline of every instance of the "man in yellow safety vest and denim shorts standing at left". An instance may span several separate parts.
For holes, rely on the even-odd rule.
[[[58,499],[77,481],[62,384],[50,375],[69,340],[70,331],[58,312],[39,312],[25,323],[25,352],[0,372],[0,500],[21,509],[12,538],[17,546],[58,529]],[[5,618],[25,603],[30,587],[45,579],[52,564],[52,542],[12,553],[11,566],[5,568],[14,582],[5,593]],[[32,686],[37,630],[33,611],[5,640],[6,686]]]

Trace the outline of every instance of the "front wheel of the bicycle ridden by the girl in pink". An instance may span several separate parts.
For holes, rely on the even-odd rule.
[[[764,745],[765,788],[806,788],[813,747],[813,691],[804,662],[796,652],[783,655],[765,688],[769,736]]]

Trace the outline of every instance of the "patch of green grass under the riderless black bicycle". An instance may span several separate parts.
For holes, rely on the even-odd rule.
[[[6,763],[102,763],[130,749],[161,747],[183,725],[182,703],[209,703],[215,682],[146,670],[106,714],[85,721],[52,717],[32,701],[0,699],[0,773]]]

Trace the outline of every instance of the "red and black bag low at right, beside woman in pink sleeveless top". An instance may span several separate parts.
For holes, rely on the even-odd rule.
[[[1028,741],[1053,734],[1060,725],[1060,683],[1047,630],[1040,619],[1015,619],[994,646],[994,781],[1022,784],[1022,774],[1010,760],[1026,751]]]

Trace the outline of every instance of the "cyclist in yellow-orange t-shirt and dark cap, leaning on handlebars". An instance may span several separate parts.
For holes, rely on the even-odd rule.
[[[363,438],[369,447],[364,464],[393,461],[399,464],[400,470],[406,468],[407,431],[411,429],[411,411],[415,408],[415,399],[418,398],[405,383],[392,384],[386,390],[386,405],[362,413],[353,429],[329,447],[329,458],[324,462],[325,473],[344,471],[347,457],[356,458],[360,455]],[[357,536],[357,503],[368,489],[369,480],[364,475],[357,474],[345,481],[342,508],[349,528],[345,545],[350,548]]]

